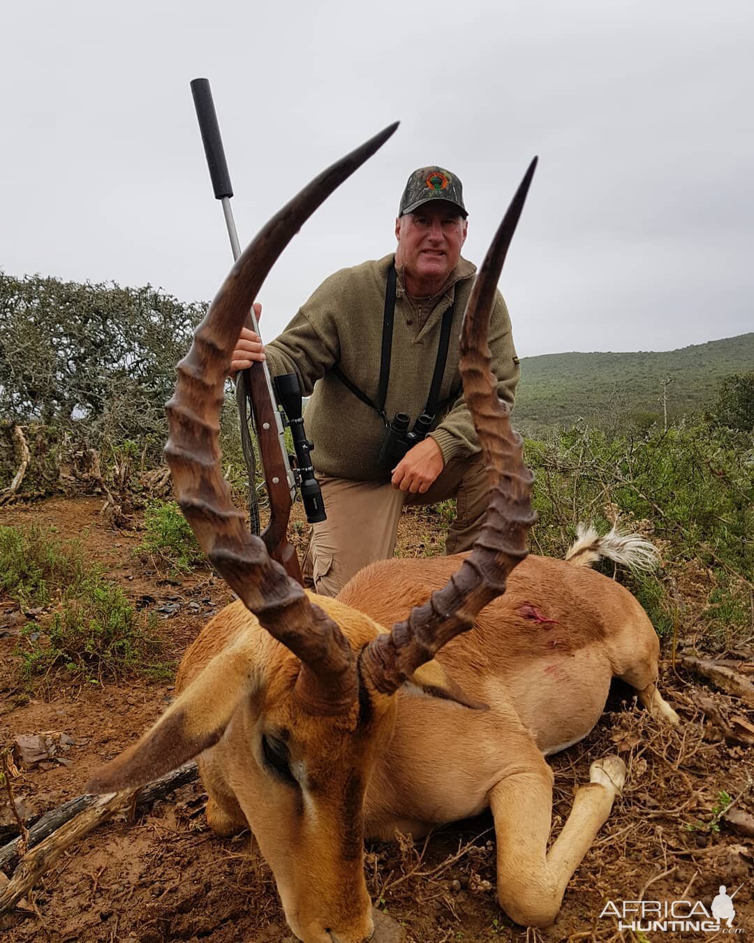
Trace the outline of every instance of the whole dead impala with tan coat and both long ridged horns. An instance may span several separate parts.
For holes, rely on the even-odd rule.
[[[90,783],[139,786],[199,756],[210,825],[220,835],[252,829],[305,943],[378,939],[365,837],[418,837],[487,806],[501,905],[520,923],[551,922],[625,768],[615,756],[593,765],[548,851],[545,754],[588,733],[613,675],[675,718],[655,687],[657,637],[631,594],[575,561],[526,558],[532,474],[495,393],[486,331],[533,165],[479,271],[461,341],[490,477],[472,551],[375,564],[326,599],[289,579],[231,505],[217,439],[240,326],[293,233],[391,130],[268,223],[179,366],[166,455],[184,513],[239,599],[188,649],[168,711]]]

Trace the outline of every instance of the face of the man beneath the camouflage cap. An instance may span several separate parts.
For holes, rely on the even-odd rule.
[[[396,263],[419,284],[439,290],[455,268],[466,241],[467,222],[451,203],[425,203],[395,221]]]

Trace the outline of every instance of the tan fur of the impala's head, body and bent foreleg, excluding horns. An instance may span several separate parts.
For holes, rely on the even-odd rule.
[[[459,556],[384,561],[358,573],[338,599],[312,599],[358,653],[460,563]],[[614,675],[672,721],[654,687],[658,654],[657,636],[626,589],[530,556],[474,630],[453,639],[397,696],[362,679],[347,714],[322,717],[294,696],[296,657],[237,602],[188,649],[165,718],[97,782],[108,785],[108,770],[119,782],[128,769],[143,775],[145,756],[152,762],[169,753],[183,762],[221,728],[199,761],[207,819],[220,835],[252,829],[305,943],[369,939],[365,836],[390,839],[399,829],[419,837],[491,805],[500,903],[519,922],[546,924],[615,788],[596,772],[548,852],[552,776],[543,757],[589,733]],[[263,736],[285,740],[297,785],[270,769]],[[610,768],[613,760],[601,762]]]

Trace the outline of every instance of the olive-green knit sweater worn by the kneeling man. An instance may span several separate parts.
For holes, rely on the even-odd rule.
[[[303,395],[311,396],[306,406],[306,434],[315,443],[312,459],[320,474],[357,481],[389,477],[377,465],[385,422],[376,410],[343,386],[332,368],[338,366],[372,402],[377,401],[385,286],[394,257],[385,256],[331,275],[283,333],[265,345],[272,376],[297,373]],[[408,413],[413,425],[423,411],[434,373],[442,316],[451,305],[454,306],[451,344],[440,400],[461,390],[458,338],[475,272],[474,265],[464,258],[459,260],[445,292],[420,329],[399,279],[385,403],[390,419],[397,412]],[[500,398],[513,405],[518,358],[500,292],[492,310],[489,346]],[[431,436],[446,463],[479,452],[462,392],[441,410]]]

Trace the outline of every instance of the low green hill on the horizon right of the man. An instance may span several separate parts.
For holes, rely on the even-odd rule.
[[[754,333],[676,351],[630,354],[547,354],[521,358],[516,425],[530,434],[550,425],[592,424],[608,415],[699,412],[730,373],[754,370]]]

